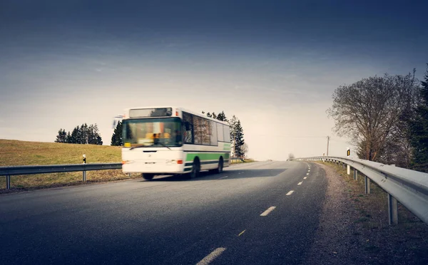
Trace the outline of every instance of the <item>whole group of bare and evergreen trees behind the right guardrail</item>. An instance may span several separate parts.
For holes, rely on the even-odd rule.
[[[335,89],[327,114],[361,159],[428,172],[428,67],[422,81],[415,71]]]

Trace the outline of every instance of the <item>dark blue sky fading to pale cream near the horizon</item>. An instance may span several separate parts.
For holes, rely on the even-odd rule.
[[[422,79],[428,1],[0,0],[0,139],[54,142],[125,108],[235,115],[248,157],[345,156],[340,85]],[[352,152],[354,154],[354,152]]]

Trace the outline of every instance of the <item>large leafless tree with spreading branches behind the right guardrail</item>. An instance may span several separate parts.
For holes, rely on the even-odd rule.
[[[351,137],[358,157],[393,161],[393,150],[406,152],[405,147],[409,146],[403,136],[407,127],[401,121],[412,108],[417,90],[415,82],[414,75],[409,73],[407,76],[385,74],[341,85],[333,93],[333,105],[327,110],[335,120],[335,132]]]

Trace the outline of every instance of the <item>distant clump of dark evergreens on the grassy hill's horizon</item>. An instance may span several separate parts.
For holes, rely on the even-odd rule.
[[[73,143],[81,145],[103,145],[103,140],[98,132],[98,126],[82,124],[80,127],[77,125],[70,133],[61,128],[58,130],[55,142]]]

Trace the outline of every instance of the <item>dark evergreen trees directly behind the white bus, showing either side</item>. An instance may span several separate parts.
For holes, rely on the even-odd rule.
[[[202,111],[205,114],[204,111]],[[248,152],[248,145],[244,141],[244,130],[240,124],[240,120],[235,117],[235,115],[228,120],[225,113],[222,111],[217,115],[215,113],[206,113],[207,117],[214,118],[216,120],[222,120],[230,125],[230,140],[232,145],[232,156],[233,157],[245,157],[245,154]],[[111,145],[121,146],[123,145],[122,140],[122,128],[123,123],[119,121],[116,125],[116,128],[113,131],[111,136]]]

